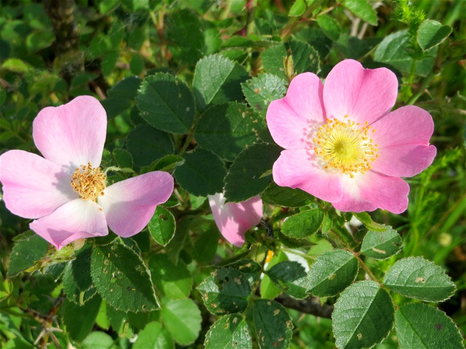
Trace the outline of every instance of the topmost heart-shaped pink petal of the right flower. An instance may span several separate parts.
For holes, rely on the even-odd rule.
[[[349,115],[354,122],[378,120],[395,105],[398,80],[386,69],[364,69],[361,63],[345,60],[327,76],[323,100],[327,117],[342,120]]]

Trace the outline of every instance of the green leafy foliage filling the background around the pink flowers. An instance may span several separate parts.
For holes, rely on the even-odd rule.
[[[1,201],[1,347],[464,348],[465,4],[3,0],[1,151],[37,152],[37,112],[94,95],[109,181],[163,170],[176,186],[133,238],[59,253]],[[396,107],[432,114],[438,153],[407,212],[348,231],[351,213],[273,183],[265,113],[290,54],[321,78],[346,58],[386,66]],[[239,249],[206,200],[223,189],[266,204]]]

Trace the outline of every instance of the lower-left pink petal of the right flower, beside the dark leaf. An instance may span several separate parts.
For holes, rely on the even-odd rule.
[[[343,193],[342,175],[324,166],[313,151],[283,150],[273,164],[273,180],[279,186],[300,188],[325,201],[338,201]]]

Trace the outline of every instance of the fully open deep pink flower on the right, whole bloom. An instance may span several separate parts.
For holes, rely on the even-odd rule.
[[[436,149],[427,111],[390,111],[397,93],[393,72],[353,60],[335,65],[325,85],[315,74],[298,75],[267,110],[270,133],[286,149],[273,165],[274,181],[340,211],[406,210],[409,186],[400,177],[428,167]]]

